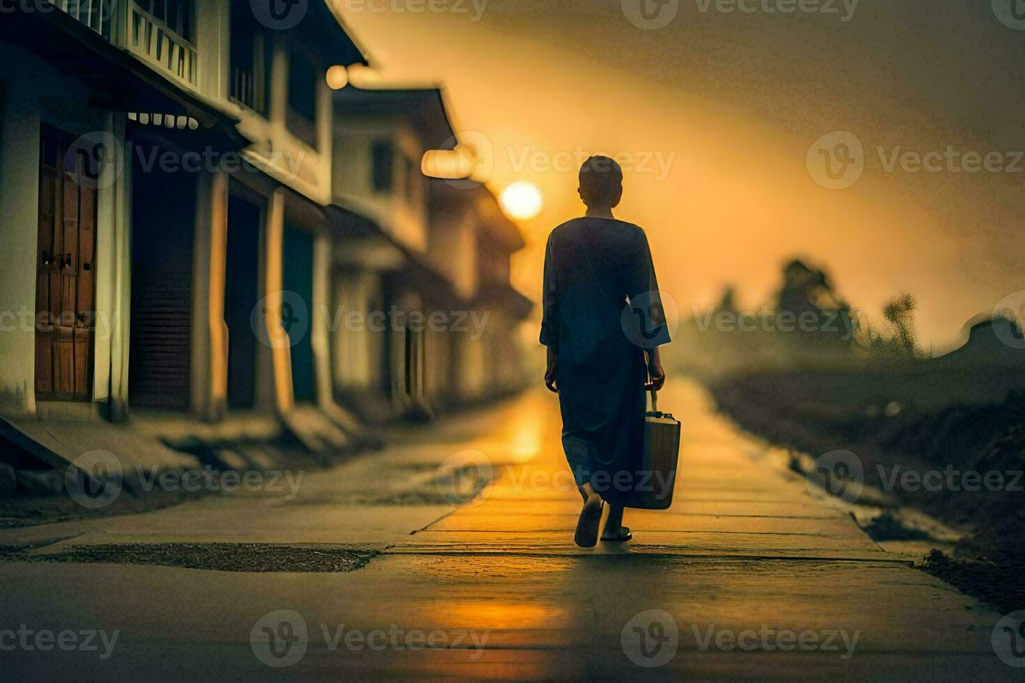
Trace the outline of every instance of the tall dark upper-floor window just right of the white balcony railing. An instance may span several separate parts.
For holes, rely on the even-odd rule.
[[[263,116],[270,113],[274,36],[248,5],[232,5],[232,91],[237,102]]]

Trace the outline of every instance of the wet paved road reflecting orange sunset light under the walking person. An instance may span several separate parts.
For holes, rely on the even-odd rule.
[[[998,614],[816,503],[695,385],[676,381],[660,405],[684,422],[675,502],[627,511],[636,539],[624,545],[573,545],[578,496],[558,404],[543,392],[306,473],[293,500],[219,496],[0,532],[0,545],[37,554],[183,542],[380,552],[348,573],[0,562],[6,624],[121,631],[109,659],[16,651],[10,670],[77,680],[1017,678],[990,645]],[[490,485],[449,505],[488,467]]]

